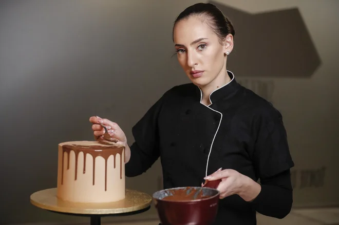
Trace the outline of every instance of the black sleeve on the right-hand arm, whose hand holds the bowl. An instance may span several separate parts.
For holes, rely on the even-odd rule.
[[[294,163],[283,118],[273,109],[257,121],[253,160],[261,192],[251,203],[260,214],[284,218],[291,211],[293,202],[290,168]]]

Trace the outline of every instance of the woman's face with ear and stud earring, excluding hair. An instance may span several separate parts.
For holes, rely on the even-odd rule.
[[[227,74],[226,56],[233,46],[228,35],[223,44],[218,36],[197,16],[178,22],[173,31],[179,64],[193,84],[207,86]]]

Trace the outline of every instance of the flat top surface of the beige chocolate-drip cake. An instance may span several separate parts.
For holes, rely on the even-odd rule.
[[[96,150],[96,149],[118,149],[124,147],[119,142],[111,142],[106,140],[98,140],[98,141],[89,141],[89,140],[78,140],[78,141],[67,141],[59,144],[61,147],[68,147],[71,149],[88,149],[88,150]]]

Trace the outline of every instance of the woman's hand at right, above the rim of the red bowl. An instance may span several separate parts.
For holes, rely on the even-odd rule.
[[[217,190],[220,192],[220,198],[237,194],[244,200],[251,201],[259,194],[261,189],[257,182],[232,169],[215,172],[204,179],[210,181],[221,179],[217,187]]]

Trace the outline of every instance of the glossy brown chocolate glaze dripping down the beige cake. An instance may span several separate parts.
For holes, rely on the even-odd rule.
[[[114,168],[116,168],[116,156],[120,154],[120,179],[122,179],[122,152],[124,151],[124,147],[116,147],[107,144],[106,142],[98,141],[98,144],[103,144],[103,146],[82,146],[82,145],[64,145],[62,146],[62,173],[61,173],[61,184],[63,184],[64,180],[64,154],[67,152],[67,170],[69,170],[69,160],[70,160],[70,152],[74,151],[76,155],[76,174],[74,179],[77,180],[78,176],[78,158],[79,153],[83,152],[84,154],[84,168],[83,174],[86,173],[86,155],[90,154],[93,157],[93,185],[95,185],[95,172],[96,172],[96,158],[101,156],[105,159],[105,191],[107,190],[107,160],[109,156],[113,155],[114,157]],[[124,152],[125,153],[125,152]],[[124,162],[126,162],[125,154],[124,154]]]

